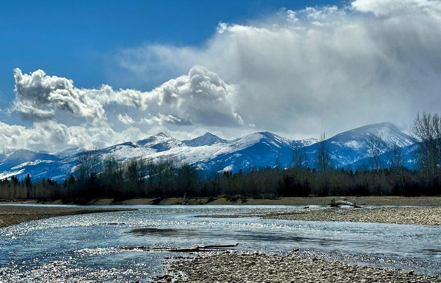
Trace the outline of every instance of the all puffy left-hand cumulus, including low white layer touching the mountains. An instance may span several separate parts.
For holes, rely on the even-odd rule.
[[[14,78],[16,96],[10,112],[19,113],[22,120],[31,121],[32,126],[1,123],[0,144],[3,147],[33,150],[87,148],[94,144],[105,147],[156,134],[152,130],[164,125],[174,127],[168,132],[185,138],[188,134],[176,131],[176,127],[187,127],[188,133],[201,126],[234,128],[245,125],[235,110],[235,86],[199,65],[191,67],[187,75],[169,79],[151,91],[113,90],[105,84],[97,89],[78,88],[73,80],[46,75],[43,70],[23,74],[16,68]],[[123,109],[130,111],[131,116],[119,113],[108,118],[106,111],[118,113]],[[149,118],[139,122],[132,118],[142,116]],[[120,123],[114,127],[116,121]],[[123,128],[121,124],[138,124],[139,128]]]

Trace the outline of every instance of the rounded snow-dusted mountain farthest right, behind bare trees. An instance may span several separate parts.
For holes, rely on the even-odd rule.
[[[327,141],[331,158],[335,166],[348,166],[369,157],[369,133],[378,132],[385,143],[397,143],[400,147],[407,147],[413,144],[412,138],[401,132],[400,127],[389,123],[370,124],[363,127],[351,129],[337,134]],[[310,166],[314,167],[315,151],[318,143],[304,147],[310,159]]]

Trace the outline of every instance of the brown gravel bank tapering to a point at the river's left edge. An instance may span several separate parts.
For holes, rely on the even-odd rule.
[[[131,208],[72,208],[43,205],[0,205],[0,227],[54,216],[136,210]]]

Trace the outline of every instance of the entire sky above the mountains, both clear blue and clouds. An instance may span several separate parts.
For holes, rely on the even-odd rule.
[[[303,139],[440,108],[440,0],[77,2],[1,4],[0,148]]]

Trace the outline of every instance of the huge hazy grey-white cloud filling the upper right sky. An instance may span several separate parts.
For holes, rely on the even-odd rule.
[[[235,85],[243,121],[292,138],[401,124],[441,107],[440,3],[356,0],[282,10],[249,25],[220,23],[201,46],[146,44],[118,60],[136,78],[204,65]]]

